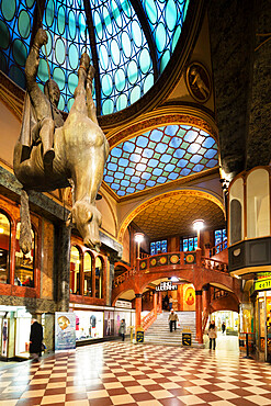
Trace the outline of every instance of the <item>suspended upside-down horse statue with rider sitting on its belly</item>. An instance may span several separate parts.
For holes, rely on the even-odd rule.
[[[94,69],[88,54],[82,54],[75,102],[64,123],[57,110],[57,83],[49,79],[44,93],[36,83],[39,49],[47,41],[46,32],[39,29],[25,64],[27,91],[13,158],[14,173],[23,184],[20,247],[26,253],[32,244],[27,192],[72,187],[74,206],[67,225],[71,223],[79,230],[86,246],[99,250],[101,214],[95,198],[109,144],[98,124],[92,99]]]

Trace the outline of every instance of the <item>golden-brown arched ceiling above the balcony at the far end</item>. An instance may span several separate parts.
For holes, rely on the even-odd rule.
[[[192,223],[197,218],[202,218],[208,229],[225,227],[224,213],[215,202],[181,191],[146,206],[133,222],[150,240],[155,240],[195,235]]]

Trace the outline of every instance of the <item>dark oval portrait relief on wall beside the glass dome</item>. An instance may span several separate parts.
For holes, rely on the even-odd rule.
[[[187,87],[192,95],[200,103],[205,103],[211,95],[212,82],[207,69],[200,63],[193,61],[187,68]]]

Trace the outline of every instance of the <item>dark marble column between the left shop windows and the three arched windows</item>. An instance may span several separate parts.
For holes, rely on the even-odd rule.
[[[71,228],[63,222],[56,229],[55,263],[57,272],[57,308],[69,311],[70,234]]]

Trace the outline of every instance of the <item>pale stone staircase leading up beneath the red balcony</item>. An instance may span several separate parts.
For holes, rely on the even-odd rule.
[[[181,346],[182,331],[192,334],[192,346],[197,347],[195,341],[195,312],[176,312],[179,322],[177,330],[169,331],[169,312],[162,312],[157,316],[154,324],[145,331],[145,343],[156,343],[166,346]],[[178,327],[179,326],[179,327]]]

